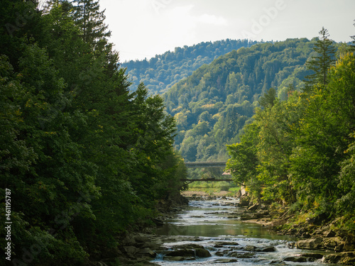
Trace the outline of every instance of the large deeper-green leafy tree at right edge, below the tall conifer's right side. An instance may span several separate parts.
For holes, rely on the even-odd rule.
[[[334,215],[341,190],[339,171],[354,131],[354,56],[346,55],[329,72],[326,88],[315,87],[291,156],[291,173],[307,208]]]

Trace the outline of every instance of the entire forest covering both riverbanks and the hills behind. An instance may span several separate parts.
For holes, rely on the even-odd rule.
[[[354,45],[323,28],[120,65],[104,19],[94,0],[1,1],[7,262],[117,257],[119,235],[153,225],[159,201],[180,196],[184,159],[229,159],[252,201],[355,232]]]

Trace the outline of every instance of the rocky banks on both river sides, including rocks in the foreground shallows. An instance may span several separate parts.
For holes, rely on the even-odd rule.
[[[210,196],[206,194],[190,194],[190,200],[216,201],[219,206],[230,205],[231,202],[225,196]],[[162,226],[165,219],[175,218],[176,214],[189,207],[185,205],[186,199],[181,199],[179,204],[172,202],[160,202],[161,215],[155,219],[156,226]],[[234,206],[234,205],[233,205]],[[349,235],[342,235],[338,231],[332,230],[332,225],[315,225],[312,221],[289,226],[288,229],[280,229],[292,221],[292,216],[286,212],[275,218],[266,206],[250,204],[241,199],[239,208],[229,212],[226,218],[241,220],[248,223],[259,223],[266,226],[271,231],[276,231],[282,235],[293,235],[298,238],[294,242],[288,243],[288,248],[298,248],[305,250],[304,253],[295,253],[283,257],[283,262],[313,262],[322,261],[337,263],[339,265],[355,265],[354,240]],[[144,233],[142,233],[144,232]],[[153,228],[145,228],[140,232],[126,233],[121,236],[121,245],[116,249],[115,261],[117,265],[148,266],[158,265],[152,262],[157,256],[163,256],[165,261],[197,260],[203,257],[210,257],[211,250],[214,250],[214,257],[218,256],[215,263],[236,262],[247,257],[262,257],[264,253],[274,253],[274,245],[256,246],[239,245],[234,241],[209,240],[208,247],[202,238],[192,236],[155,235]],[[173,243],[167,248],[166,243]],[[187,243],[187,244],[181,244]],[[218,250],[216,252],[216,249]],[[109,265],[107,260],[97,262],[100,266]]]

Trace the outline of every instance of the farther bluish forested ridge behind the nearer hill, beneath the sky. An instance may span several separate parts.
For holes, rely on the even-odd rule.
[[[256,44],[251,40],[218,40],[204,42],[183,48],[175,48],[174,52],[165,52],[155,55],[150,60],[131,60],[124,62],[122,67],[127,67],[131,82],[131,89],[138,87],[143,82],[153,94],[165,92],[173,84],[190,76],[194,70],[204,64],[209,64],[220,55],[242,47]]]

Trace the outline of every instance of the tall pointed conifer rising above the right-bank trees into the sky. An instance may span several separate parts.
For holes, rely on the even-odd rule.
[[[328,78],[327,73],[329,67],[334,65],[335,52],[333,40],[329,39],[329,33],[327,29],[322,28],[320,31],[321,38],[315,43],[315,52],[317,56],[313,56],[312,60],[307,62],[307,67],[314,73],[305,77],[306,90],[310,90],[315,84],[327,85]]]

